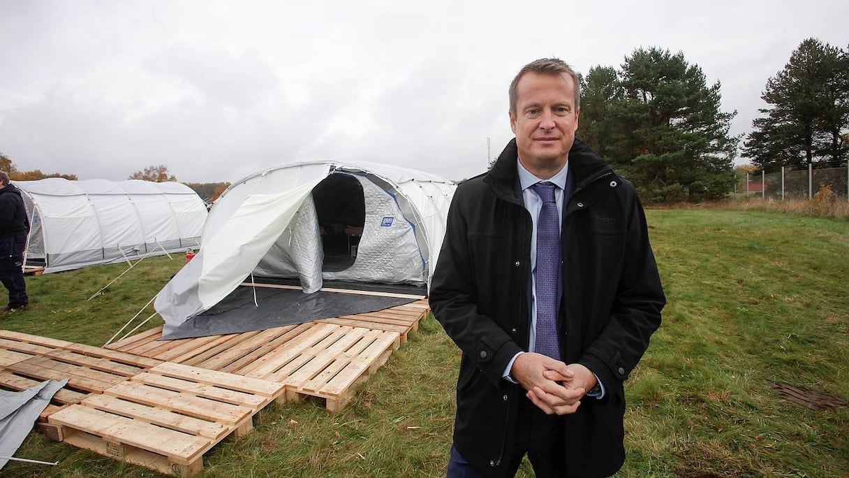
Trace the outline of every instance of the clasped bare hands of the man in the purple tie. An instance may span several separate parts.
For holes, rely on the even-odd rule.
[[[598,383],[595,375],[579,363],[566,365],[534,352],[516,357],[510,375],[525,387],[528,399],[548,415],[575,413],[583,395]]]

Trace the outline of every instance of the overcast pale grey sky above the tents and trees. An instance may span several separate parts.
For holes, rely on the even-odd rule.
[[[512,138],[507,87],[557,56],[583,74],[681,51],[746,133],[807,37],[846,48],[845,0],[0,0],[0,152],[21,170],[184,182],[284,162],[462,179]]]

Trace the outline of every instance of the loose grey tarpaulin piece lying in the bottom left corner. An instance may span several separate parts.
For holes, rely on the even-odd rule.
[[[38,415],[47,408],[50,399],[68,379],[48,380],[22,392],[0,390],[0,457],[12,457],[32,430]],[[8,459],[0,458],[0,469]]]

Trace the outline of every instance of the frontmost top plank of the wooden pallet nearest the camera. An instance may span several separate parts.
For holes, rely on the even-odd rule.
[[[165,455],[178,463],[188,464],[212,447],[211,440],[205,437],[161,428],[79,404],[53,413],[48,422]]]

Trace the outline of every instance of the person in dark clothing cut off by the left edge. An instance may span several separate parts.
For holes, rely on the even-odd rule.
[[[24,251],[30,220],[20,190],[0,171],[0,281],[8,289],[8,310],[24,310],[30,303],[24,281]]]

